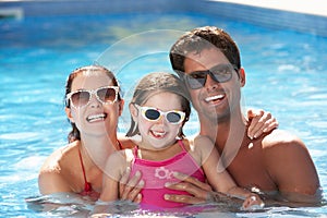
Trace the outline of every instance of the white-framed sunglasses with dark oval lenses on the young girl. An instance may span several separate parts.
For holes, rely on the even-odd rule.
[[[169,123],[179,124],[184,121],[185,112],[179,110],[161,111],[157,108],[142,107],[134,105],[138,111],[142,113],[143,118],[148,121],[157,121],[164,116]]]

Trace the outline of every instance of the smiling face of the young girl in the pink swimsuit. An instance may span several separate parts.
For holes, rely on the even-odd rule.
[[[173,93],[159,93],[152,96],[141,107],[156,108],[162,112],[178,110],[182,111],[181,99]],[[182,128],[182,122],[170,123],[164,114],[158,120],[147,120],[141,109],[131,105],[131,113],[142,135],[142,145],[149,149],[162,149],[173,145]]]

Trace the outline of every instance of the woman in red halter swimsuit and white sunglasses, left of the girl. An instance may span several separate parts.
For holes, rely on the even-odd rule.
[[[124,105],[119,92],[113,73],[102,66],[84,66],[70,74],[65,86],[65,113],[72,125],[70,144],[51,154],[41,167],[41,194],[68,192],[98,198],[102,166],[110,154],[123,148],[117,138]],[[131,186],[138,181],[134,179]],[[136,187],[121,195],[137,202],[137,193]]]

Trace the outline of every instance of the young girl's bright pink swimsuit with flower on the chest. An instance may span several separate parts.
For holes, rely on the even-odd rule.
[[[136,170],[142,172],[142,179],[145,181],[145,186],[141,191],[142,204],[144,206],[158,207],[180,207],[184,206],[181,203],[168,202],[164,198],[165,194],[182,194],[190,195],[183,191],[174,191],[165,187],[166,182],[178,182],[172,173],[174,171],[192,175],[197,180],[205,182],[205,174],[202,168],[196,164],[194,158],[187,153],[183,142],[180,140],[179,145],[182,152],[172,158],[154,161],[140,159],[137,157],[137,147],[134,147],[134,160],[132,162],[132,173],[134,175]]]

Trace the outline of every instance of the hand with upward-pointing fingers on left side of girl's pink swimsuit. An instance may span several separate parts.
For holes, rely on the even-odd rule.
[[[120,199],[129,199],[134,203],[142,201],[141,190],[144,186],[144,181],[141,180],[141,172],[137,171],[133,178],[130,178],[131,168],[128,168],[119,182]]]

